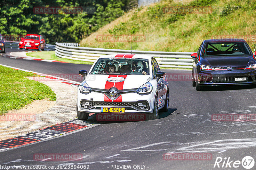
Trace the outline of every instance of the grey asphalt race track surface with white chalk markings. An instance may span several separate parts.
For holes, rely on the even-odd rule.
[[[81,69],[90,68],[88,65],[3,56],[0,63],[45,74],[77,74]],[[140,122],[103,122],[89,129],[8,149],[0,152],[0,165],[55,166],[49,169],[60,169],[60,166],[67,169],[83,166],[86,169],[89,166],[89,169],[97,170],[245,169],[246,164],[252,166],[254,161],[244,157],[256,159],[255,121],[213,121],[212,115],[255,114],[256,87],[208,87],[197,92],[188,78],[191,70],[164,71],[169,80],[170,102],[168,112],[160,114],[159,118]],[[41,153],[78,153],[83,159],[35,160],[34,154]],[[166,156],[165,153],[173,154]],[[184,153],[189,154],[188,160],[182,158]],[[196,159],[196,155],[204,160]],[[256,169],[256,165],[252,169]]]

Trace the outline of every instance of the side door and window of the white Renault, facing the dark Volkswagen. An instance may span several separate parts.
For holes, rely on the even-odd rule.
[[[156,62],[156,59],[152,58],[151,59],[151,63],[152,63],[152,70],[153,70],[153,77],[154,79],[157,80],[156,78],[156,72],[160,71],[160,68]],[[163,78],[160,78],[157,82],[157,91],[158,91],[158,106],[161,106],[164,103],[164,82],[163,82]]]

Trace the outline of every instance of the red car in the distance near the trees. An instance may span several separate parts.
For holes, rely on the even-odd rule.
[[[20,40],[20,49],[36,49],[38,51],[44,51],[45,40],[42,35],[27,34]]]

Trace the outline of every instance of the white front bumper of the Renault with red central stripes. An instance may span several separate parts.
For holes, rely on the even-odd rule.
[[[103,93],[92,91],[89,94],[84,94],[78,89],[77,109],[80,112],[104,113],[101,112],[101,107],[115,107],[124,108],[125,113],[152,113],[154,108],[154,94],[153,92],[144,95],[136,92],[125,93],[115,101],[109,100]],[[82,106],[84,102],[90,103],[87,105],[87,108]],[[141,109],[138,103],[142,103],[147,107]]]

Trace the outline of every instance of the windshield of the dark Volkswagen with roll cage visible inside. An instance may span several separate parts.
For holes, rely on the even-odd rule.
[[[250,55],[251,52],[244,42],[206,43],[202,56]]]

